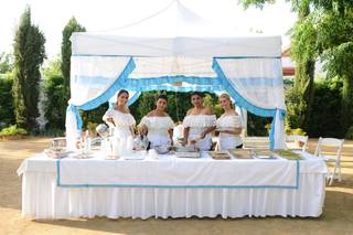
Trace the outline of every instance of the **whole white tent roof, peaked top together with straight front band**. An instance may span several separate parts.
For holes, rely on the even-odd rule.
[[[157,14],[106,33],[74,33],[74,55],[122,56],[269,56],[280,57],[281,38],[236,30],[232,15],[226,21],[206,20],[172,1]]]

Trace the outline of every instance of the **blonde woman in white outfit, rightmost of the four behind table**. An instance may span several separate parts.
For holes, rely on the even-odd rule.
[[[220,150],[242,148],[243,141],[239,133],[242,132],[243,124],[232,105],[229,95],[222,94],[220,104],[224,114],[216,120],[216,130],[220,132],[218,148]]]

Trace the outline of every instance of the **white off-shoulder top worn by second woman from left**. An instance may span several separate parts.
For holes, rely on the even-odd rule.
[[[147,138],[151,141],[152,147],[171,145],[168,130],[174,127],[173,120],[169,117],[147,117],[141,119],[140,125],[145,125],[148,129]]]

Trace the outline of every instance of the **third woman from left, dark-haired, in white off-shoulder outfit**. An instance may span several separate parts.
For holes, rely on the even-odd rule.
[[[184,145],[195,145],[203,151],[212,148],[211,131],[215,129],[216,116],[212,114],[211,108],[203,106],[203,98],[200,93],[191,95],[191,103],[194,108],[186,113],[183,120]]]

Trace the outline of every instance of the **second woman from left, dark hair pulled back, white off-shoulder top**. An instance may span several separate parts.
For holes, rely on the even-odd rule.
[[[165,95],[158,96],[156,109],[148,113],[139,125],[141,135],[147,135],[151,147],[171,146],[174,122],[165,113],[168,99]]]

